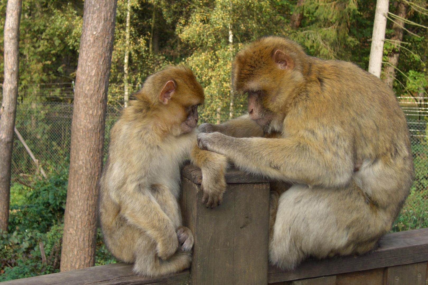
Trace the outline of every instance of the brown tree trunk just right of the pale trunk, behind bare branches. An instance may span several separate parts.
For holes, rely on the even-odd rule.
[[[395,11],[395,15],[400,16],[401,18],[406,18],[407,15],[407,4],[404,4],[402,2],[398,3],[397,10]],[[391,40],[394,41],[402,41],[403,40],[403,32],[402,29],[404,27],[404,21],[395,19],[394,20],[397,24],[392,24],[392,29],[394,29],[394,32],[392,34]],[[388,62],[397,67],[398,66],[398,57],[400,56],[400,46],[398,42],[395,42],[394,44],[394,50],[392,50],[392,53],[388,54]],[[394,83],[395,79],[395,68],[391,65],[385,65],[383,68],[383,72],[385,73],[385,78],[383,81],[389,85],[389,87],[392,88],[392,84]]]

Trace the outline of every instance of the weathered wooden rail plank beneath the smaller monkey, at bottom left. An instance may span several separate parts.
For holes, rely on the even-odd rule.
[[[149,278],[135,274],[132,264],[115,263],[94,266],[67,272],[53,273],[23,279],[0,282],[1,285],[187,285],[190,278],[189,270],[163,276]]]

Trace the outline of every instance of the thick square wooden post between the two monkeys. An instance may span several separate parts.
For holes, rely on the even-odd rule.
[[[195,236],[192,284],[268,283],[269,183],[231,168],[223,203],[202,203],[202,173],[190,163],[181,172],[183,223]]]

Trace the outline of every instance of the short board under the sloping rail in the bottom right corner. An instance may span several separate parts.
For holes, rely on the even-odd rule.
[[[388,267],[386,285],[425,285],[427,262]]]

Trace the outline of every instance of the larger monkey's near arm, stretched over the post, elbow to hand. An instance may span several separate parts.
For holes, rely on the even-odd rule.
[[[326,149],[297,138],[232,138],[220,132],[200,133],[197,140],[241,169],[310,186],[347,185],[354,169],[352,152],[340,142]]]

